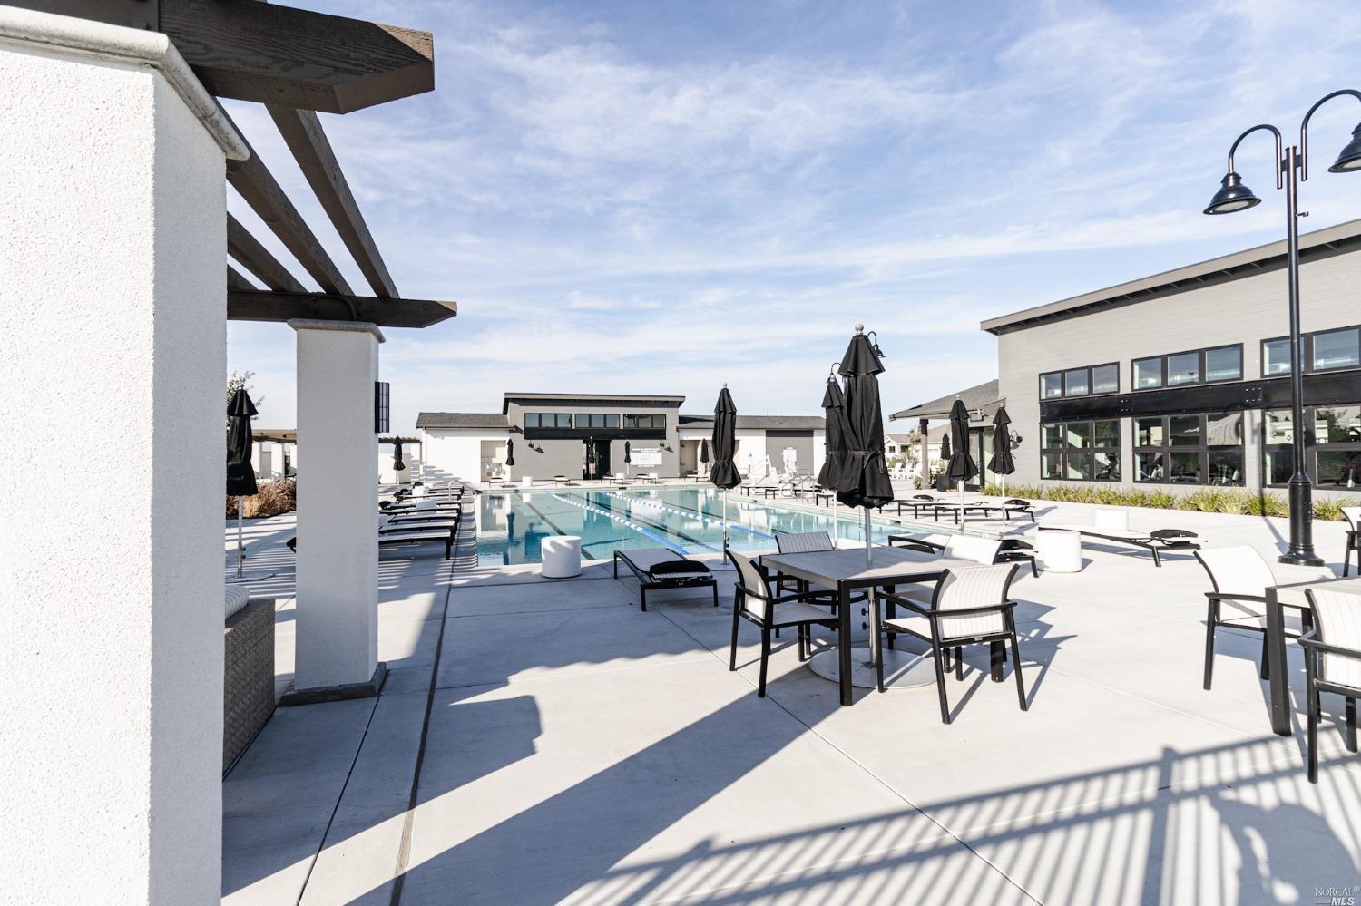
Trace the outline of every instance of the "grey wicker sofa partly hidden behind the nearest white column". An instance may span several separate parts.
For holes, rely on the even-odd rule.
[[[226,590],[223,643],[222,770],[255,739],[274,711],[274,599]]]

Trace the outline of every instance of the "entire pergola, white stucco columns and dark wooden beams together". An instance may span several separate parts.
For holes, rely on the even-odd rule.
[[[24,827],[7,880],[64,902],[214,902],[226,320],[297,335],[297,701],[373,695],[381,328],[457,309],[401,298],[317,113],[433,90],[433,41],[260,0],[18,0],[0,4],[0,418],[65,438],[64,480],[109,502],[72,520],[0,482],[0,509],[24,513],[0,558],[0,662],[42,686],[0,731]],[[367,287],[219,98],[267,106]],[[227,214],[225,181],[305,276]],[[30,460],[11,445],[0,469]]]

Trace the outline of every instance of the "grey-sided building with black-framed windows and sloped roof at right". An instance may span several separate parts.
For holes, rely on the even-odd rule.
[[[1301,237],[1307,468],[1361,482],[1361,220]],[[1283,488],[1293,471],[1285,244],[983,322],[1015,483]],[[906,414],[906,411],[905,411]]]

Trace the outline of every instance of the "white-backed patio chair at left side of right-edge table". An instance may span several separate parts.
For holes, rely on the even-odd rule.
[[[1224,627],[1262,633],[1262,668],[1259,675],[1267,679],[1267,589],[1279,585],[1271,566],[1253,548],[1219,547],[1196,551],[1195,558],[1210,575],[1213,590],[1206,592],[1207,601],[1204,626],[1204,688],[1210,688],[1214,679],[1214,631]],[[1313,578],[1332,578],[1332,570],[1326,575],[1316,570],[1301,570],[1313,574]],[[1307,581],[1300,577],[1296,581]],[[1285,604],[1282,607],[1290,607]],[[1302,631],[1312,627],[1312,615],[1308,608],[1292,608],[1300,611]],[[1225,615],[1228,614],[1228,616]],[[1300,633],[1286,633],[1290,638],[1298,638]]]

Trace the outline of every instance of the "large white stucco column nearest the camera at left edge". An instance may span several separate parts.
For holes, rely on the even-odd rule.
[[[245,148],[162,34],[0,7],[0,888],[215,902]]]

